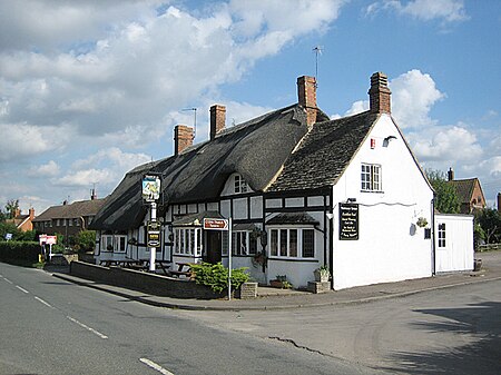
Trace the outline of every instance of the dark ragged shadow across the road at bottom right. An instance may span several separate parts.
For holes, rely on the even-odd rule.
[[[414,326],[434,333],[453,332],[458,345],[442,352],[396,353],[392,359],[397,365],[386,369],[406,374],[501,374],[501,303],[415,312],[446,318],[446,323],[415,323]],[[464,334],[472,335],[475,342],[461,345]]]

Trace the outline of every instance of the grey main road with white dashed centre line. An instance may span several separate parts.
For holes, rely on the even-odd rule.
[[[0,263],[0,374],[374,374]]]

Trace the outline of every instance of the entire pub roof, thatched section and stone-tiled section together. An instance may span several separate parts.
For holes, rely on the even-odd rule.
[[[289,191],[335,185],[377,119],[369,111],[328,120],[318,111],[317,124],[306,125],[306,112],[293,105],[223,130],[214,140],[191,146],[177,156],[129,171],[90,225],[94,229],[138,227],[146,214],[140,180],[146,172],[161,175],[167,205],[208,201],[233,172],[255,191]],[[328,160],[328,162],[325,162]]]

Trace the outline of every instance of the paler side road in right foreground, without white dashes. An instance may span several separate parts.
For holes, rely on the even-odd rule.
[[[178,312],[397,374],[501,374],[501,280],[295,310]]]

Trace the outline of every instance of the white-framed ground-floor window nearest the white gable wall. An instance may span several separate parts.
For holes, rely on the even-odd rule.
[[[310,228],[269,229],[269,254],[279,258],[314,258],[315,231]]]

